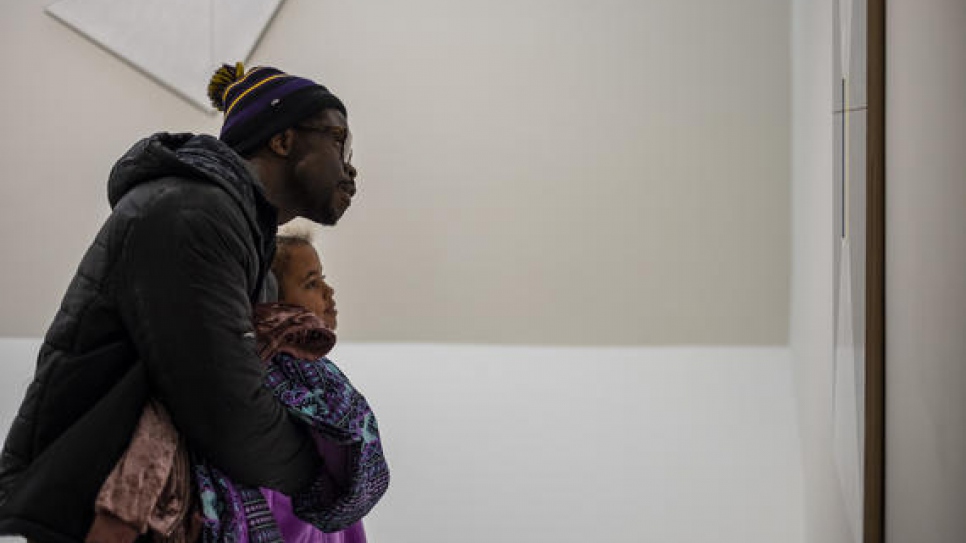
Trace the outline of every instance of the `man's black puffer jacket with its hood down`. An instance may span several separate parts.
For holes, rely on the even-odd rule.
[[[276,214],[253,173],[215,138],[157,134],[108,197],[0,457],[0,534],[83,541],[149,395],[234,480],[292,493],[316,475],[254,350]]]

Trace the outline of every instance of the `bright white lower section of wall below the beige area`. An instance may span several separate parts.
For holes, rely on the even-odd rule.
[[[0,340],[0,422],[36,346]],[[802,541],[785,348],[340,344],[333,358],[392,470],[373,542]]]

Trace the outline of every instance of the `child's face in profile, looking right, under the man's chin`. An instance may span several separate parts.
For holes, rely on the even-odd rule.
[[[315,313],[330,330],[335,330],[335,290],[325,282],[322,263],[315,248],[307,243],[293,244],[288,248],[289,258],[285,273],[279,278],[282,299],[279,301],[300,305]]]

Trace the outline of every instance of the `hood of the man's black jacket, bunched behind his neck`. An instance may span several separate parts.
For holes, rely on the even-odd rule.
[[[160,132],[132,146],[111,169],[107,199],[114,208],[143,183],[180,177],[218,185],[244,210],[266,254],[274,240],[277,211],[266,198],[255,172],[215,137]]]

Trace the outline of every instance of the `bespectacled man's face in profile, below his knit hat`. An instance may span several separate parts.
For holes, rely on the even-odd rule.
[[[297,215],[333,225],[352,203],[356,169],[347,163],[345,115],[327,109],[292,128],[288,187]]]

